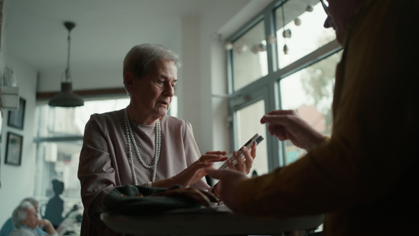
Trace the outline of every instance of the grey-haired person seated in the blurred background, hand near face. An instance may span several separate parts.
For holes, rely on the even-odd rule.
[[[13,211],[12,221],[16,229],[10,233],[10,236],[43,235],[40,231],[36,230],[37,227],[45,227],[47,235],[58,236],[50,221],[47,219],[38,219],[38,212],[29,201],[23,201],[16,207]]]

